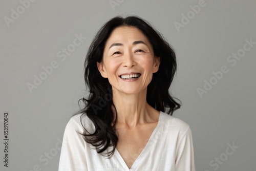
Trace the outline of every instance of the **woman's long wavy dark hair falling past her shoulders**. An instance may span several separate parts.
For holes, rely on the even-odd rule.
[[[181,106],[181,102],[175,101],[176,98],[170,96],[169,93],[177,63],[173,48],[162,34],[156,31],[150,23],[138,16],[125,18],[117,16],[110,19],[98,31],[88,50],[84,63],[84,80],[90,94],[87,99],[80,99],[85,106],[76,113],[82,113],[80,117],[81,123],[85,115],[93,122],[95,132],[89,133],[83,125],[84,132],[81,135],[87,143],[96,147],[97,153],[101,153],[103,156],[112,156],[114,154],[118,142],[118,135],[115,129],[117,115],[112,100],[112,86],[108,78],[101,76],[97,68],[97,62],[102,60],[106,41],[113,30],[122,26],[138,28],[151,42],[154,55],[160,57],[159,70],[153,74],[152,81],[147,87],[147,103],[156,110],[170,115]],[[113,147],[111,151],[102,153],[110,146]]]

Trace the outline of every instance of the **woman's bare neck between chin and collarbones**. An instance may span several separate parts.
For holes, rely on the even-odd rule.
[[[113,103],[118,123],[135,127],[158,120],[155,114],[159,112],[146,102],[146,89],[138,94],[124,94],[113,90]]]

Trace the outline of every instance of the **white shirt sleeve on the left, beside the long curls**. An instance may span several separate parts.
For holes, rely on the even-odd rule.
[[[84,154],[85,141],[78,132],[83,132],[82,125],[71,118],[66,125],[63,135],[59,171],[80,171],[88,170],[86,155]]]

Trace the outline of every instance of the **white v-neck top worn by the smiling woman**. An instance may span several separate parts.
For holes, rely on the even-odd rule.
[[[181,119],[160,112],[158,124],[139,157],[129,169],[115,149],[111,158],[98,154],[95,147],[77,133],[83,132],[81,114],[68,122],[59,160],[59,171],[195,171],[194,148],[190,127]],[[82,117],[83,125],[92,133],[92,121]]]

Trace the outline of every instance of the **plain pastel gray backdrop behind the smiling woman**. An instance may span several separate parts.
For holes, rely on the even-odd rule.
[[[255,170],[255,1],[29,2],[0,6],[1,170],[57,170],[65,126],[87,95],[84,57],[96,31],[116,15],[150,21],[174,47],[170,91],[183,103],[174,116],[191,127],[196,169]]]

